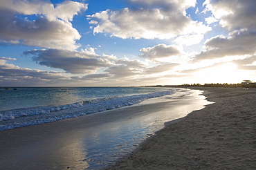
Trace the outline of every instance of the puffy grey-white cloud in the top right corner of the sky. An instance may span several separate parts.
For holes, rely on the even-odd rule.
[[[206,0],[204,5],[228,30],[255,29],[255,0]]]

